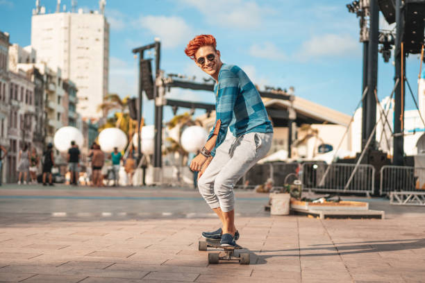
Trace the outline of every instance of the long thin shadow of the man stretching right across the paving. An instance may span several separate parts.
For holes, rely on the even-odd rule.
[[[329,257],[335,255],[356,255],[356,254],[367,254],[371,252],[393,252],[397,250],[416,250],[419,248],[425,248],[425,239],[401,239],[401,240],[381,240],[381,241],[361,241],[361,242],[350,242],[350,243],[333,243],[310,245],[312,248],[292,248],[287,250],[244,250],[240,252],[251,252],[251,264],[266,264],[268,258],[282,257],[282,258],[293,258],[293,257]],[[340,246],[344,245],[344,246]],[[345,246],[348,245],[348,246]],[[313,251],[319,252],[306,253],[306,254],[292,254],[285,252],[295,251]],[[320,252],[324,250],[334,252]],[[283,252],[281,255],[264,255],[265,252]],[[256,254],[256,253],[259,253]]]

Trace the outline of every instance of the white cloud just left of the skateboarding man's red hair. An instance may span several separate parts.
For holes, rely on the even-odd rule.
[[[140,17],[136,24],[147,28],[153,36],[160,37],[161,44],[165,48],[174,48],[183,44],[194,35],[192,28],[182,17],[148,15]]]

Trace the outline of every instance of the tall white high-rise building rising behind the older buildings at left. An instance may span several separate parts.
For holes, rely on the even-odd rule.
[[[108,92],[109,24],[103,8],[104,1],[101,12],[45,14],[38,7],[32,17],[31,46],[37,61],[60,68],[64,79],[76,83],[82,117],[101,117],[97,108]]]

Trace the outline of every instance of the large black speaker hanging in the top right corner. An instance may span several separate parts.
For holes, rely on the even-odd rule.
[[[404,22],[404,51],[406,53],[421,53],[424,42],[424,0],[406,0]]]

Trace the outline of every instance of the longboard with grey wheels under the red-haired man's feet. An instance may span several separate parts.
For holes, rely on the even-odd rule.
[[[206,241],[199,241],[199,250],[207,250],[207,248],[220,248],[224,251],[224,255],[220,256],[219,252],[208,252],[208,264],[219,264],[220,260],[225,261],[238,261],[240,264],[249,264],[250,257],[248,252],[241,252],[238,256],[234,254],[235,250],[242,249],[241,246],[235,247],[222,247],[220,241],[206,239]]]

